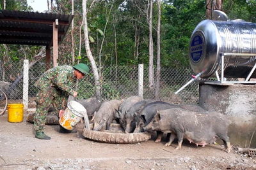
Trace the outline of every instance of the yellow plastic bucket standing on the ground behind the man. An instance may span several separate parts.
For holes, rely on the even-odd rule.
[[[19,104],[8,104],[8,122],[22,122],[23,121],[23,108],[22,103]]]

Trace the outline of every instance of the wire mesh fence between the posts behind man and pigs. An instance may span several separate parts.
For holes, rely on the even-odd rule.
[[[0,90],[8,97],[9,103],[22,103],[23,97],[23,62],[1,64]],[[35,108],[35,96],[38,89],[35,81],[46,71],[44,62],[29,64],[28,108]],[[50,66],[52,67],[52,66]],[[124,99],[125,97],[138,95],[139,69],[138,66],[104,66],[100,70],[100,94],[102,101],[110,99]],[[189,68],[161,68],[159,99],[169,103],[198,103],[198,84],[191,83],[179,94],[174,93],[191,80]],[[84,76],[77,81],[74,87],[79,93],[78,99],[97,97],[95,93],[95,81],[92,75]],[[155,99],[155,90],[148,86],[148,68],[143,67],[143,98]],[[5,99],[0,94],[0,107],[4,107]]]

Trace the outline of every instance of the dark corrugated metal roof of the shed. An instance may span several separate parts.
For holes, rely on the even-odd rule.
[[[52,24],[58,19],[58,44],[74,15],[0,10],[0,43],[52,46]]]

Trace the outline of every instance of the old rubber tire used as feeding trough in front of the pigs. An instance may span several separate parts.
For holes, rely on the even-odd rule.
[[[106,131],[92,131],[83,129],[84,138],[92,139],[93,141],[103,142],[103,143],[139,143],[147,141],[151,138],[149,132],[140,133],[115,133]]]

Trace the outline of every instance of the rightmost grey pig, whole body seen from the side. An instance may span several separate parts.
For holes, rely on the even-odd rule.
[[[171,132],[170,141],[166,146],[171,145],[173,139],[177,136],[180,149],[183,138],[187,138],[190,143],[202,145],[213,143],[217,138],[222,139],[225,148],[229,153],[231,150],[230,140],[228,138],[228,125],[230,122],[227,117],[221,113],[211,112],[200,114],[193,111],[173,108],[159,111],[150,124],[144,127],[145,131]]]

